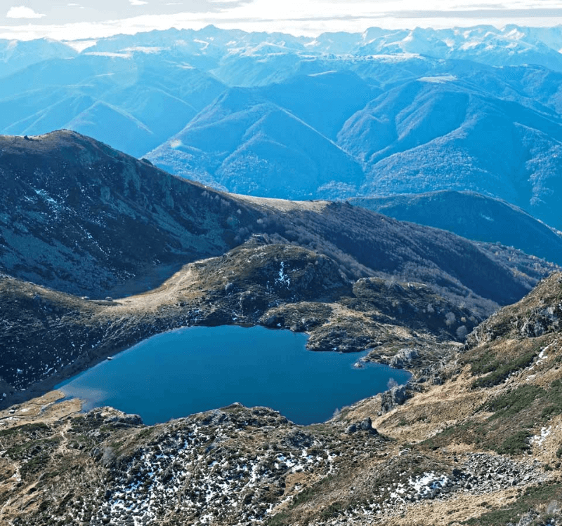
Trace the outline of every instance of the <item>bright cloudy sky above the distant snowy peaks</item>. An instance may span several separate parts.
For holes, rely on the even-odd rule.
[[[316,36],[367,27],[562,25],[559,0],[0,0],[0,38],[100,38],[217,27]]]

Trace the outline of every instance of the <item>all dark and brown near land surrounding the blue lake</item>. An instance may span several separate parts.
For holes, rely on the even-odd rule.
[[[561,520],[560,267],[346,202],[216,191],[70,131],[0,137],[0,197],[0,522]],[[311,426],[238,403],[145,426],[51,390],[225,324],[412,379]]]

